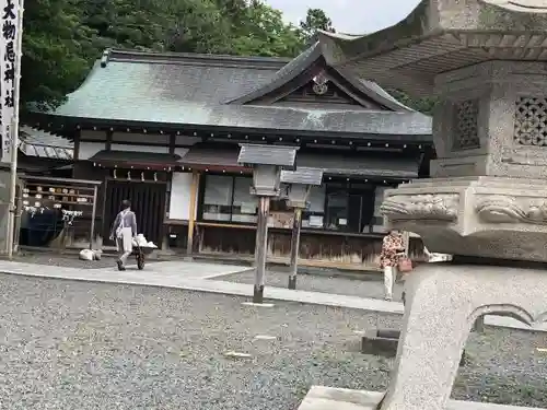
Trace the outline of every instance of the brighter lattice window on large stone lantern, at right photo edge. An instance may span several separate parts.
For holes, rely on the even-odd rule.
[[[516,99],[513,138],[520,145],[547,145],[547,98]]]

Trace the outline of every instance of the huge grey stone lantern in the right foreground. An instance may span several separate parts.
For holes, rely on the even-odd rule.
[[[386,191],[382,210],[454,260],[407,281],[381,408],[445,409],[478,317],[547,318],[547,1],[423,0],[381,32],[319,37],[329,65],[439,99],[431,178]]]

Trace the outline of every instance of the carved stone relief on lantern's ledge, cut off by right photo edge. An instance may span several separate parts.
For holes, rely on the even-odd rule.
[[[547,201],[533,202],[514,197],[492,196],[477,202],[479,219],[489,223],[547,224]]]

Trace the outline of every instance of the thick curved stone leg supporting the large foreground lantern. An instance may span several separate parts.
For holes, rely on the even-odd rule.
[[[472,328],[482,315],[547,320],[544,269],[428,263],[409,276],[394,379],[379,409],[445,410]]]

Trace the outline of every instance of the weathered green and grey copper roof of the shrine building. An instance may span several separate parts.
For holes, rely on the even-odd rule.
[[[431,139],[431,118],[416,112],[223,104],[270,81],[287,63],[282,59],[112,52],[94,66],[65,104],[47,114],[82,124],[97,120]]]

